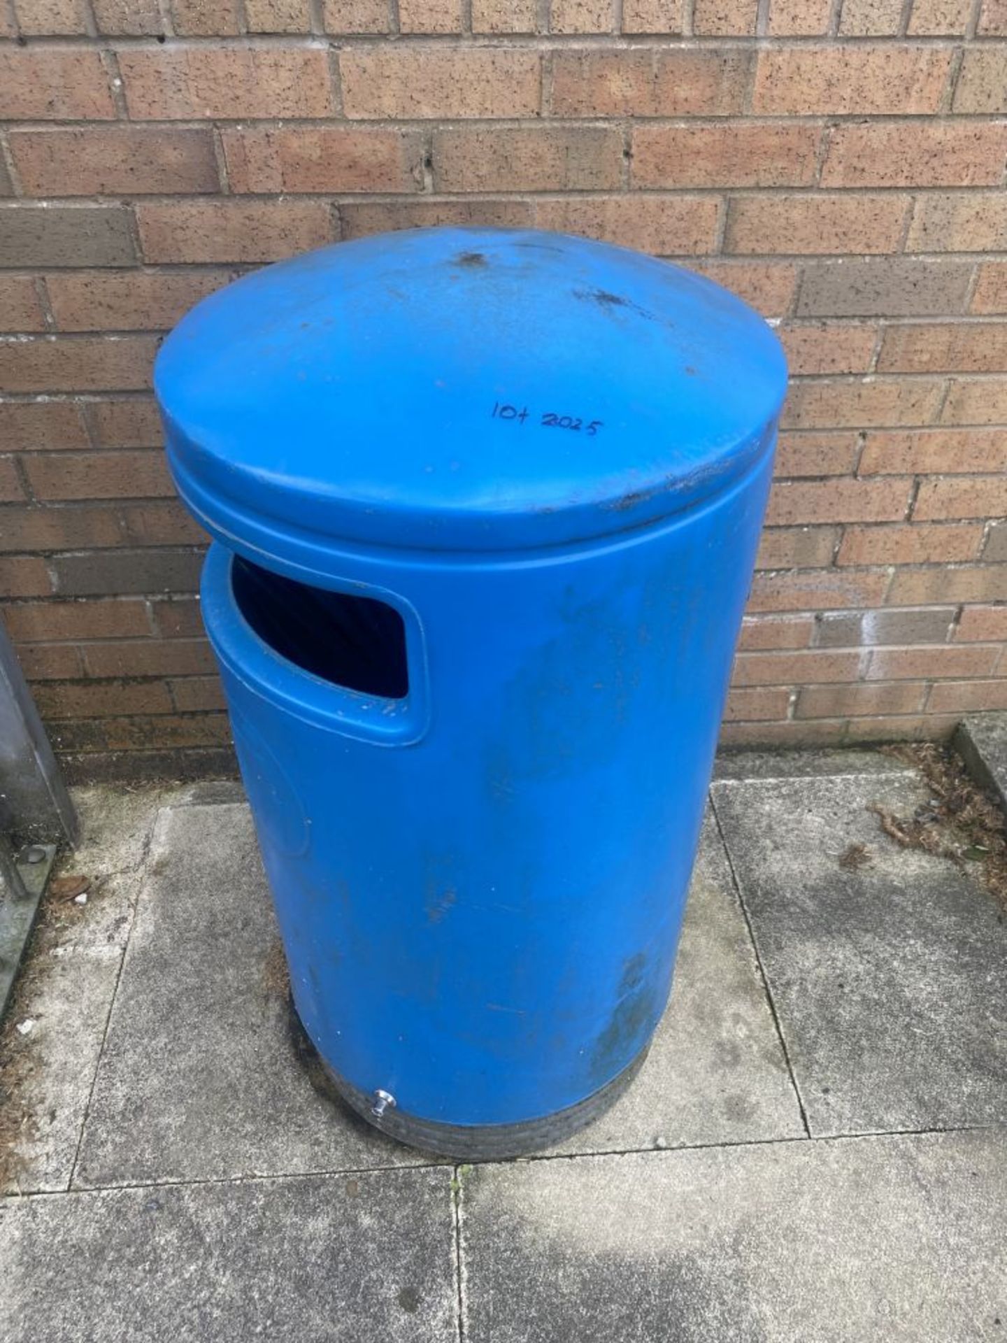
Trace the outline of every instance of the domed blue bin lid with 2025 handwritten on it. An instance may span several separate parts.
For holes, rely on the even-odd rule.
[[[724,489],[768,449],[785,377],[765,321],[700,275],[452,227],[243,277],[176,326],[154,387],[176,483],[218,536],[512,549]]]

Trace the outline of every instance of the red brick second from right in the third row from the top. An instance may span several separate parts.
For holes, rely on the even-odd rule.
[[[634,187],[803,187],[815,175],[818,126],[732,121],[635,126]]]

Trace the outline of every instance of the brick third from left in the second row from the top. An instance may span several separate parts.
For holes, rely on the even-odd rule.
[[[401,44],[340,52],[350,118],[534,117],[537,51]]]

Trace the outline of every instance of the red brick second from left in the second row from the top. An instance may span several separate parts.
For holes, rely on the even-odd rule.
[[[134,121],[329,117],[325,51],[314,47],[125,47],[118,52]]]

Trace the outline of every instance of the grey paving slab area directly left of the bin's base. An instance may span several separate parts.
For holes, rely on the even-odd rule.
[[[424,1160],[318,1095],[297,1057],[248,808],[162,810],[75,1185]]]

